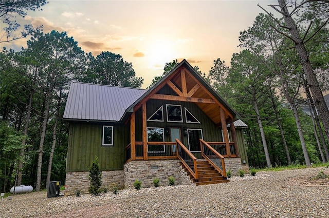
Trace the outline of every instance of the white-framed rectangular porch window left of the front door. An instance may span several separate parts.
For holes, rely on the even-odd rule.
[[[150,127],[148,128],[148,142],[165,142],[163,128]],[[160,144],[160,143],[159,143]],[[149,145],[149,153],[165,152],[165,145]]]

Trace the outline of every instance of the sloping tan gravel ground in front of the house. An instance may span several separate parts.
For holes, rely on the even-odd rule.
[[[47,198],[46,192],[0,201],[0,217],[329,217],[329,168],[258,172],[229,183],[121,190]],[[319,182],[320,181],[320,182]]]

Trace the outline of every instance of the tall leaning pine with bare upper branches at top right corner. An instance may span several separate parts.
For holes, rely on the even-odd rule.
[[[301,3],[295,1],[289,5],[285,0],[278,0],[279,5],[270,5],[273,9],[279,12],[284,20],[285,25],[281,25],[278,19],[274,18],[271,14],[270,16],[275,19],[275,21],[280,25],[281,28],[286,31],[281,31],[275,28],[279,33],[290,39],[294,43],[297,54],[300,57],[302,63],[302,69],[304,71],[308,86],[312,95],[314,97],[315,106],[321,117],[321,121],[324,126],[324,131],[327,138],[329,138],[329,109],[327,108],[322,90],[319,86],[317,77],[313,72],[312,65],[309,60],[309,53],[306,50],[305,44],[310,41],[324,26],[329,22],[329,2],[328,1],[302,1]],[[293,10],[289,12],[288,7],[292,7]],[[309,19],[309,24],[307,30],[304,34],[298,29],[296,25],[296,20],[293,18],[294,14],[298,13],[300,10],[305,9],[314,12],[317,16],[314,18],[321,18],[321,26],[314,31],[312,35],[308,35],[308,30],[312,27],[313,21]],[[266,10],[265,10],[266,11]],[[267,12],[267,11],[266,11]],[[273,27],[274,28],[274,27]]]

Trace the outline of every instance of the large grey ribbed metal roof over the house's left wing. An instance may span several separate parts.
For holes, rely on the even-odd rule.
[[[126,108],[147,90],[72,82],[64,120],[120,121]]]

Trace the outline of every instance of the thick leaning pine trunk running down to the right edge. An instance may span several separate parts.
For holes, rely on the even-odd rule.
[[[296,51],[301,58],[303,71],[305,73],[306,80],[308,83],[307,85],[309,86],[309,89],[312,92],[315,101],[315,106],[318,109],[319,116],[324,126],[324,132],[327,138],[329,138],[329,109],[325,104],[321,88],[312,70],[312,66],[309,62],[309,58],[303,40],[300,36],[299,31],[297,30],[293,17],[291,17],[290,13],[288,12],[285,0],[278,0],[278,3],[281,7],[284,22],[289,28],[291,38],[293,38],[295,42]]]

